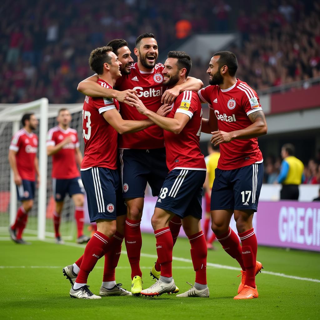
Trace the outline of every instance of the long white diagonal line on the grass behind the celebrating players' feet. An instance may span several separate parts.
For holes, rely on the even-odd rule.
[[[54,243],[55,242],[54,239],[46,239],[46,240],[43,240],[43,241],[44,242],[48,242],[48,243]],[[76,244],[76,243],[73,243],[73,242],[65,242],[65,245],[68,245],[70,247],[85,248],[84,244]],[[127,252],[125,250],[122,250],[121,253],[127,254]],[[154,254],[148,254],[148,253],[142,253],[142,252],[141,252],[141,257],[157,259],[157,256],[154,255]],[[179,257],[172,257],[172,260],[192,263],[191,259],[185,259],[185,258],[179,258]],[[211,263],[211,262],[207,262],[207,267],[212,267],[212,268],[217,268],[217,269],[237,270],[237,271],[240,270],[239,268],[225,266],[225,265],[222,265],[222,264]],[[0,266],[0,268],[1,268],[1,266]],[[117,267],[117,268],[120,268],[120,267]],[[173,268],[175,268],[175,267],[173,267]],[[267,274],[267,275],[271,275],[271,276],[279,276],[279,277],[289,278],[289,279],[294,279],[294,280],[301,280],[301,281],[309,281],[309,282],[320,283],[319,279],[304,278],[304,277],[298,277],[298,276],[290,276],[290,275],[286,275],[284,273],[278,273],[278,272],[272,272],[272,271],[262,271],[262,272],[263,272],[263,274]]]

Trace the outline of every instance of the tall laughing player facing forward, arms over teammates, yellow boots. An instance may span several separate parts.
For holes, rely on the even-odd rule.
[[[117,52],[119,57],[120,52]],[[138,57],[130,74],[124,75],[116,82],[116,89],[136,92],[144,105],[156,112],[165,102],[173,101],[184,90],[198,91],[203,83],[201,80],[188,77],[187,81],[165,91],[162,71],[164,66],[156,63],[158,58],[158,45],[152,33],[138,36],[134,48]],[[121,57],[120,57],[121,59]],[[91,76],[79,84],[78,90],[86,95],[107,96],[118,95],[117,90],[106,89],[97,85],[96,76]],[[121,116],[126,120],[143,120],[146,116],[126,103],[120,104]],[[163,129],[158,126],[149,127],[143,131],[120,136],[120,164],[123,197],[127,204],[127,219],[125,221],[125,244],[131,265],[131,278],[133,294],[140,294],[142,290],[142,272],[140,269],[140,252],[142,245],[140,222],[144,204],[144,194],[149,183],[153,196],[159,195],[161,186],[168,173],[165,162],[165,148]],[[174,218],[170,223],[173,237],[180,231],[180,220]],[[157,268],[157,269],[156,269]],[[159,263],[152,268],[151,275],[158,277]],[[177,288],[175,292],[179,289]]]

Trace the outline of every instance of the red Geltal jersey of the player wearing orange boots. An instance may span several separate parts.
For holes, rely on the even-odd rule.
[[[213,108],[221,131],[231,132],[248,127],[252,124],[248,116],[262,110],[257,93],[239,79],[228,89],[208,85],[198,94]],[[221,170],[233,170],[263,161],[257,138],[233,140],[219,146],[218,168]]]

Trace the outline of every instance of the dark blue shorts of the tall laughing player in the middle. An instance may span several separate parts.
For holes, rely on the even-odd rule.
[[[168,174],[165,148],[119,149],[122,191],[124,198],[144,197],[147,182],[157,196]]]

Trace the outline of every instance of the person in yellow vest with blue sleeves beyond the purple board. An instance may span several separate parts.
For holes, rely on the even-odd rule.
[[[299,185],[304,180],[304,165],[294,156],[294,146],[286,143],[281,149],[283,161],[278,176],[278,183],[282,184],[280,191],[281,200],[298,200]]]

